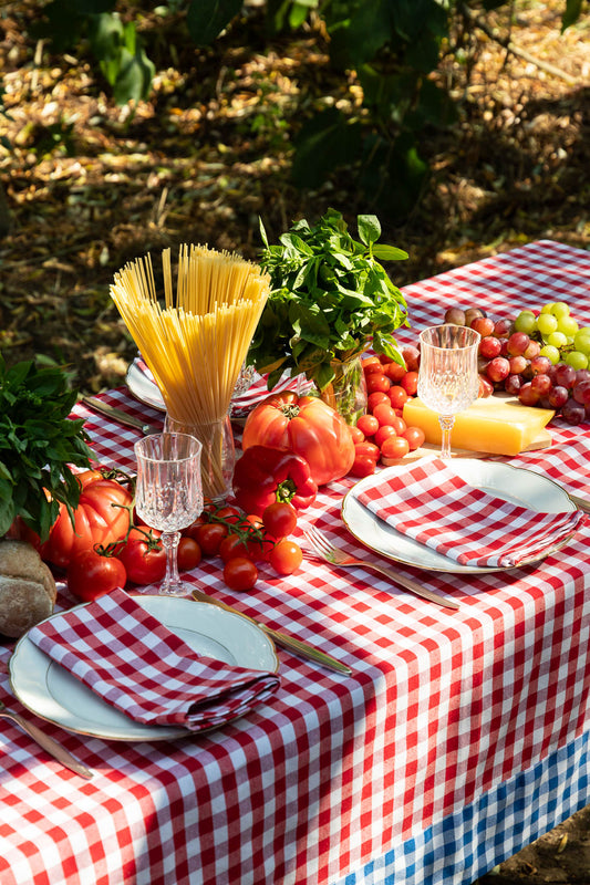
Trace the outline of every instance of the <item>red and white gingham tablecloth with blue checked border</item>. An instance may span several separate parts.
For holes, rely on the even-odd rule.
[[[539,241],[404,292],[412,329],[401,342],[451,305],[506,316],[563,300],[590,324],[590,253]],[[126,389],[105,399],[162,419]],[[76,413],[100,459],[133,467],[134,430]],[[557,419],[550,430],[550,448],[506,460],[590,498],[590,425]],[[306,518],[354,550],[340,519],[351,485],[322,489]],[[540,566],[509,572],[398,566],[458,611],[361,568],[308,561],[232,594],[219,561],[206,561],[193,575],[199,586],[353,675],[280,649],[278,694],[197,738],[130,745],[46,723],[94,769],[91,781],[2,721],[1,885],[473,882],[590,802],[589,540],[584,528]],[[11,648],[1,646],[0,697],[23,712],[8,681]]]

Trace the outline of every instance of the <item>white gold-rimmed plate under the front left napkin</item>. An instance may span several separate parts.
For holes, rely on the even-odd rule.
[[[134,600],[201,655],[255,670],[279,669],[272,642],[240,615],[183,597],[134,596]],[[21,704],[41,719],[69,731],[134,741],[192,733],[178,726],[148,726],[130,719],[41,652],[28,634],[17,643],[9,666],[12,690]]]

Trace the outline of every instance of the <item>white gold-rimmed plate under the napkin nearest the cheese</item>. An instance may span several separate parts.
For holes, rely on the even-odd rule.
[[[475,458],[453,458],[453,468],[465,482],[477,489],[503,498],[515,504],[521,504],[530,510],[545,513],[562,513],[576,510],[568,493],[548,477],[534,473],[520,467],[503,464],[501,461],[480,461]],[[400,476],[408,469],[407,465],[387,467],[380,473],[385,480],[387,477]],[[432,569],[437,572],[477,573],[505,571],[501,566],[478,568],[475,565],[460,565],[448,556],[396,532],[384,520],[358,500],[358,496],[365,486],[374,482],[375,477],[361,479],[345,494],[342,502],[342,519],[351,534],[365,546],[405,565],[417,569]],[[552,550],[558,550],[569,541],[569,537]],[[545,555],[548,555],[546,553]]]

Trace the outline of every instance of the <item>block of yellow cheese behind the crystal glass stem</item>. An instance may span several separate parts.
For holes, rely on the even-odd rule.
[[[517,397],[488,396],[455,415],[451,445],[490,455],[518,455],[531,446],[553,415],[549,408],[522,406]],[[417,396],[405,403],[403,417],[408,427],[424,430],[426,442],[441,441],[437,413]]]

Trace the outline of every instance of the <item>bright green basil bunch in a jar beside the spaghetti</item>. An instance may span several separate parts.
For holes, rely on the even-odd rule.
[[[406,303],[379,259],[398,261],[407,252],[376,242],[376,216],[361,215],[356,225],[360,241],[342,215],[329,209],[315,226],[298,221],[271,246],[260,221],[260,263],[271,293],[248,362],[269,373],[269,389],[290,369],[323,391],[334,378],[331,363],[361,354],[369,343],[403,362],[392,333],[408,325]]]

